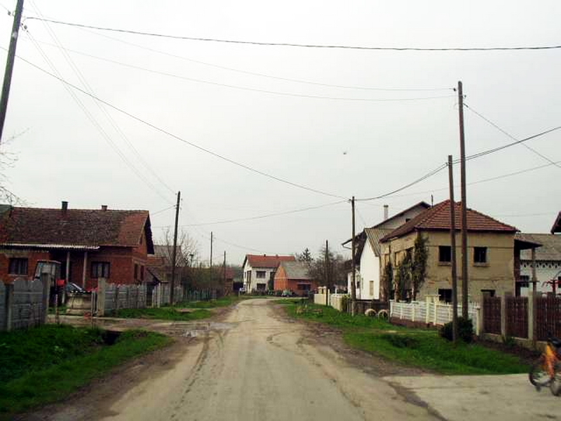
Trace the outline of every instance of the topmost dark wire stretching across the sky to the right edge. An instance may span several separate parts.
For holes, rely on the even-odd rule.
[[[88,29],[97,29],[99,31],[120,32],[123,34],[156,36],[158,38],[184,39],[188,41],[205,41],[219,42],[226,44],[246,44],[254,46],[282,46],[282,47],[300,47],[300,48],[332,48],[347,50],[370,50],[370,51],[523,51],[523,50],[553,50],[561,48],[561,45],[553,46],[515,46],[515,47],[447,47],[447,48],[420,48],[420,47],[379,47],[379,46],[345,46],[345,45],[324,45],[324,44],[295,44],[288,42],[263,42],[263,41],[241,41],[234,39],[217,39],[217,38],[201,38],[195,36],[182,36],[170,34],[158,34],[156,32],[142,32],[132,29],[118,29],[109,27],[98,27],[94,25],[85,25],[74,22],[65,22],[62,20],[53,20],[29,16],[27,20],[42,20],[44,22],[55,23],[57,25],[67,25],[70,27],[81,27]]]

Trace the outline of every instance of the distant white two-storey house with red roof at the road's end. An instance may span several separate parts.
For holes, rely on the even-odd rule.
[[[245,255],[243,286],[246,291],[273,289],[273,277],[280,262],[295,262],[294,256]]]

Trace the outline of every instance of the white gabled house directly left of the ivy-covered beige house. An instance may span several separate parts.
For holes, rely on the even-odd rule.
[[[363,232],[356,236],[356,298],[358,300],[379,300],[380,299],[380,239],[405,224],[419,213],[431,206],[421,201],[410,208],[388,218],[388,207],[384,206],[384,221],[374,227],[365,228]],[[343,243],[349,247],[351,240]],[[353,279],[352,269],[347,272],[347,288],[351,291]]]

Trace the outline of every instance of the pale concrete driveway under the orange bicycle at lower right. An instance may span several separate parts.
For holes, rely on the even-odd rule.
[[[392,385],[414,392],[450,421],[561,420],[561,399],[536,389],[526,374],[396,376]]]

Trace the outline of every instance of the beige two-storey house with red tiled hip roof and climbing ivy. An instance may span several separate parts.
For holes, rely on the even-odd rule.
[[[417,300],[425,295],[440,295],[440,300],[452,298],[451,241],[449,200],[438,203],[412,220],[381,238],[382,265],[393,270],[393,293],[401,299]],[[461,203],[454,203],[456,255],[459,302],[461,302]],[[477,210],[467,210],[468,230],[468,299],[481,302],[482,295],[504,295],[515,292],[515,233],[518,229],[491,218]],[[426,276],[417,291],[413,291],[411,277],[403,265],[413,259],[418,237],[425,240],[428,253]],[[520,244],[520,248],[535,245]],[[400,272],[400,267],[402,272]],[[400,275],[397,276],[398,272]],[[399,285],[397,283],[400,282]]]

